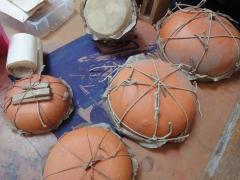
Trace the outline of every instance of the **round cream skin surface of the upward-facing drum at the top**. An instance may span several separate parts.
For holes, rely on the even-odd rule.
[[[112,35],[129,20],[131,2],[126,0],[88,0],[84,15],[88,26],[103,35]]]

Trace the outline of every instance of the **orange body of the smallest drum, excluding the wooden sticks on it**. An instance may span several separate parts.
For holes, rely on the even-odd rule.
[[[51,90],[51,99],[46,101],[31,102],[13,105],[12,97],[23,93],[19,87],[26,86],[29,82],[39,82],[39,75],[33,75],[17,81],[5,94],[4,107],[5,117],[14,128],[24,134],[42,134],[57,128],[72,112],[72,91],[70,87],[58,78],[52,76],[41,76],[40,82],[48,82]],[[63,100],[64,94],[68,97]],[[41,119],[45,126],[41,123]]]

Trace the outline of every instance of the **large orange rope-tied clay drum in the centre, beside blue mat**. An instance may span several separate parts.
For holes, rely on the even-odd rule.
[[[127,62],[104,98],[113,124],[148,148],[188,137],[196,113],[196,89],[177,68],[160,60]]]

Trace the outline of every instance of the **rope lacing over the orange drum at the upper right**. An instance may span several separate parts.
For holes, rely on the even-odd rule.
[[[173,10],[169,10],[165,17],[160,20],[157,23],[157,28],[159,30],[159,37],[158,37],[158,47],[160,49],[161,56],[164,60],[166,60],[169,63],[176,64],[171,58],[169,58],[168,53],[166,52],[166,47],[172,40],[193,40],[196,39],[201,44],[202,47],[202,55],[198,58],[197,62],[193,62],[193,60],[190,59],[190,64],[186,64],[184,62],[181,62],[182,68],[186,69],[190,75],[193,77],[199,77],[199,78],[207,78],[207,79],[213,79],[213,80],[219,80],[224,79],[226,77],[229,77],[233,72],[237,71],[240,66],[240,36],[234,35],[234,33],[231,32],[228,26],[234,27],[231,22],[234,24],[237,23],[235,20],[233,20],[230,16],[227,16],[225,14],[219,13],[219,12],[213,12],[212,10],[201,8],[203,4],[206,2],[206,0],[202,0],[198,5],[196,6],[190,6],[187,4],[180,4],[176,3],[176,7]],[[164,25],[164,23],[172,16],[177,15],[177,13],[192,13],[192,17],[185,22],[182,23],[178,28],[176,28],[169,37],[161,37],[160,36],[160,29]],[[200,18],[207,18],[208,19],[208,28],[205,32],[201,34],[193,34],[192,36],[184,36],[184,37],[177,37],[177,34],[181,32],[184,28],[187,28],[187,26],[194,22],[195,20],[198,20]],[[229,22],[224,21],[222,18],[226,18],[229,20]],[[224,34],[212,34],[213,29],[213,22],[218,23],[222,29],[224,29]],[[235,65],[224,74],[215,76],[209,76],[204,74],[199,74],[198,70],[201,64],[204,62],[205,58],[208,56],[209,47],[210,47],[210,41],[213,39],[220,39],[220,38],[226,38],[226,39],[233,39],[236,49],[237,49],[237,55],[235,57]],[[186,41],[187,42],[187,41]],[[213,47],[214,48],[214,47]],[[226,47],[227,48],[227,47]],[[183,52],[184,53],[184,52]],[[196,78],[195,78],[196,79]]]

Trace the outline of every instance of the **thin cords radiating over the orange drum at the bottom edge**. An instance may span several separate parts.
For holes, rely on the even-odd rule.
[[[92,144],[91,144],[91,138],[89,136],[89,128],[87,127],[84,129],[86,132],[86,135],[85,135],[86,137],[85,136],[84,137],[87,139],[88,150],[90,152],[90,158],[88,158],[88,160],[84,160],[85,157],[79,156],[79,154],[77,153],[78,151],[73,151],[71,149],[71,147],[68,147],[63,142],[61,142],[61,139],[63,139],[64,136],[67,135],[67,134],[65,134],[62,138],[60,138],[57,146],[59,146],[63,151],[66,151],[71,156],[76,158],[79,161],[79,165],[64,168],[62,170],[58,170],[51,174],[44,175],[43,180],[47,180],[48,178],[53,177],[55,175],[61,175],[61,173],[65,173],[65,172],[72,171],[72,170],[78,170],[78,169],[81,169],[84,171],[84,173],[79,174],[80,180],[89,179],[89,178],[96,179],[95,174],[100,175],[103,179],[106,179],[106,180],[114,180],[114,179],[112,179],[112,177],[110,177],[108,174],[106,174],[106,172],[103,172],[102,170],[100,170],[97,166],[98,165],[100,166],[101,163],[104,163],[108,160],[116,159],[119,157],[128,157],[129,159],[132,158],[129,153],[122,152],[124,144],[121,139],[119,139],[120,142],[119,142],[115,152],[109,152],[106,145],[105,145],[105,147],[103,147],[103,143],[107,142],[107,140],[106,140],[107,136],[109,136],[111,134],[110,129],[106,129],[105,133],[101,137],[101,140],[99,141],[99,143],[96,146],[97,149],[94,152],[94,148],[92,147]],[[75,140],[77,140],[77,138]],[[79,151],[81,151],[81,149],[79,149]]]

